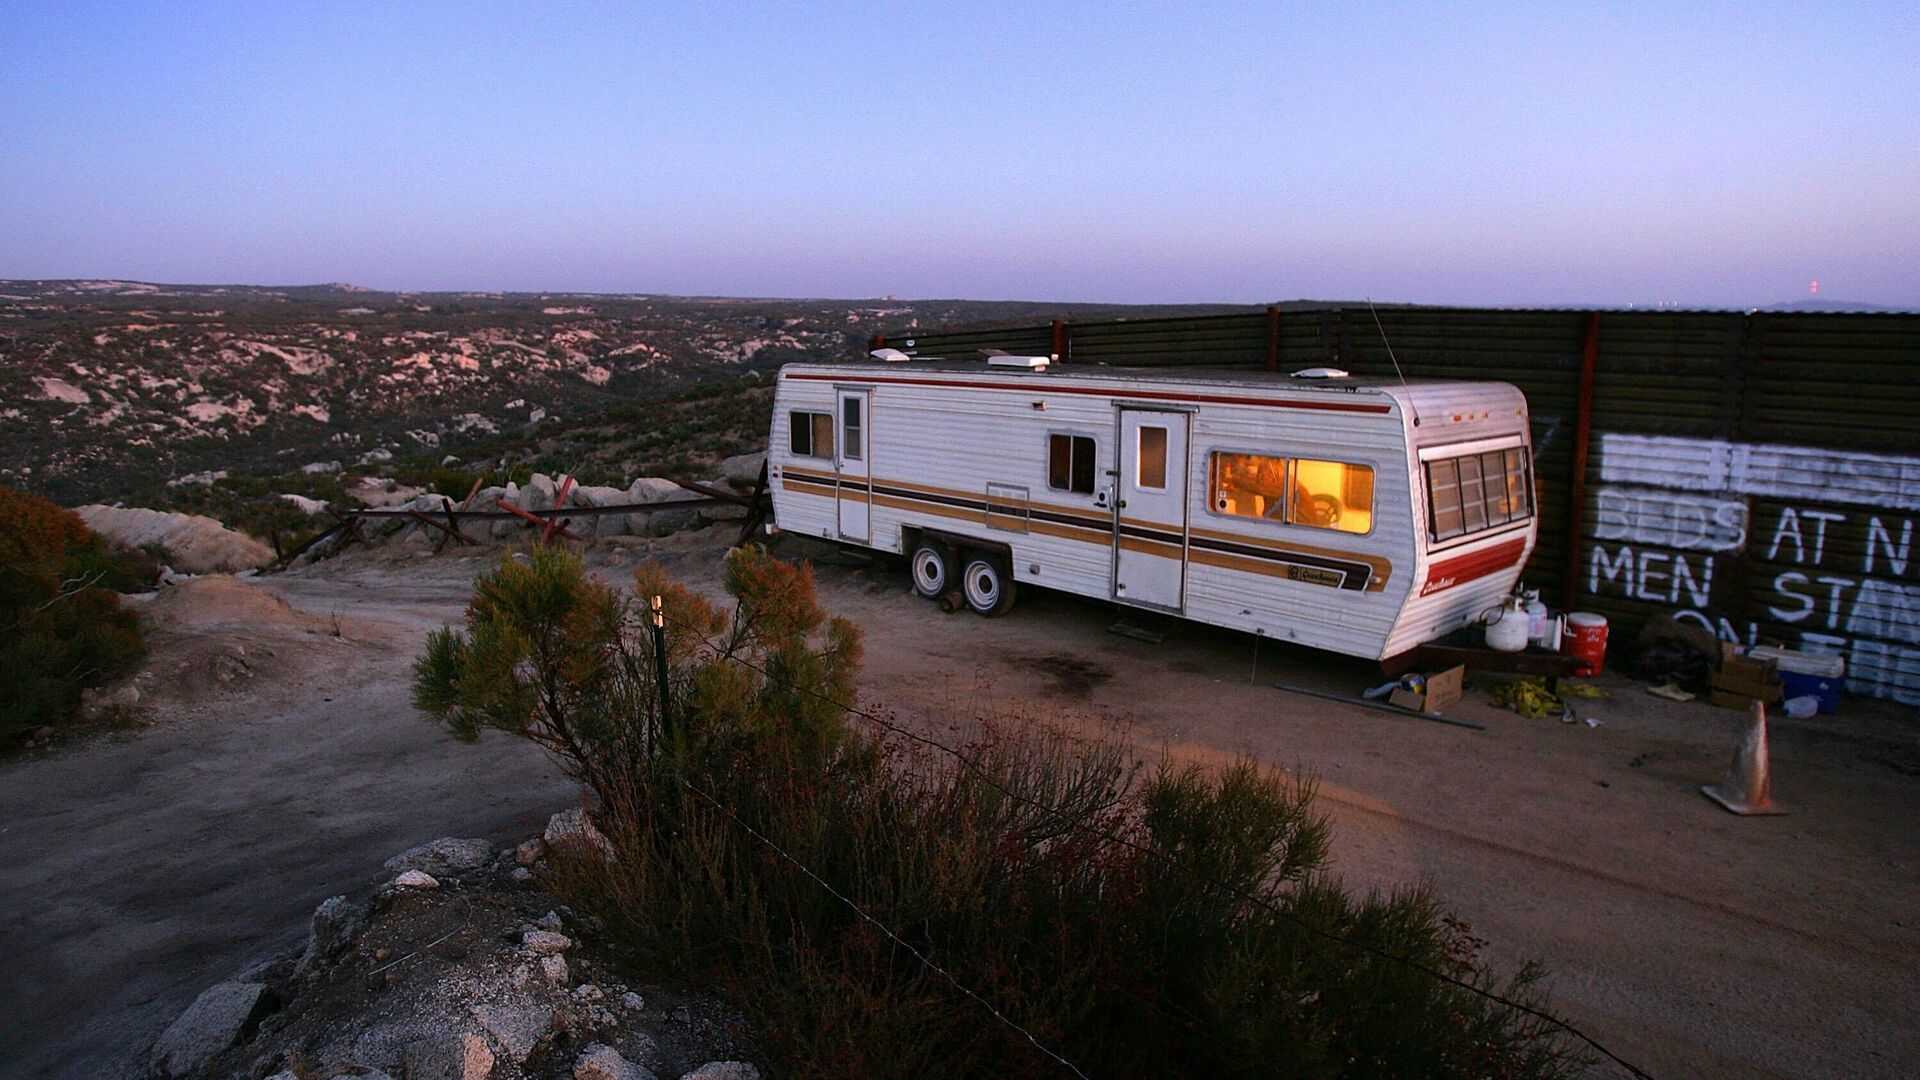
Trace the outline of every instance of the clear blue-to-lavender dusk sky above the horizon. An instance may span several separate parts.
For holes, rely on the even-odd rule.
[[[1920,4],[25,4],[0,277],[1920,307]]]

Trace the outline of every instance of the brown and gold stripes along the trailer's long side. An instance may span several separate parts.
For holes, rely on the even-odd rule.
[[[985,498],[927,488],[922,484],[868,480],[866,477],[835,477],[833,473],[814,473],[808,469],[795,469],[791,465],[781,471],[780,482],[795,494],[820,498],[866,496],[874,500],[874,505],[889,509],[933,513],[981,527],[987,523]],[[1100,546],[1110,546],[1114,542],[1114,523],[1104,513],[1087,513],[1044,503],[1029,505],[1027,513],[1029,528],[1043,536]],[[1135,519],[1119,523],[1119,542],[1129,552],[1144,552],[1169,559],[1179,559],[1183,548],[1190,548],[1192,561],[1202,565],[1283,577],[1286,580],[1327,588],[1380,592],[1386,588],[1386,578],[1392,575],[1392,563],[1373,555],[1302,552],[1254,536],[1235,536],[1200,528],[1190,530],[1183,544],[1179,528]],[[1492,569],[1486,573],[1492,573]]]

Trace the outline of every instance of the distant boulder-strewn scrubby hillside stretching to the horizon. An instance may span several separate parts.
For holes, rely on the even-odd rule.
[[[0,281],[0,484],[71,503],[530,446],[541,421],[856,356],[881,323],[1062,311],[1167,309]]]

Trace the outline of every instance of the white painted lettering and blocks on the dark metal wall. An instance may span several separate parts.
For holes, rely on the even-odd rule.
[[[1601,434],[1586,590],[1847,657],[1920,705],[1920,457]]]

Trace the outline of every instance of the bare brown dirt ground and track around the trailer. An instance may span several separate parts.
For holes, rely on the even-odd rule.
[[[712,588],[720,532],[657,548]],[[634,561],[589,559],[614,580]],[[407,663],[480,565],[363,553],[227,586],[290,607],[223,588],[209,600],[244,630],[156,634],[165,721],[0,765],[0,1076],[117,1074],[386,855],[532,832],[576,798],[528,748],[459,746],[407,707]],[[1352,694],[1375,671],[1244,634],[1169,621],[1146,644],[1106,630],[1112,607],[1039,590],[1004,619],[941,615],[900,567],[847,557],[820,559],[820,580],[868,632],[864,701],[900,723],[1119,719],[1154,751],[1319,776],[1338,874],[1432,884],[1496,965],[1546,965],[1555,1009],[1655,1076],[1920,1072],[1914,709],[1776,719],[1791,813],[1738,819],[1697,790],[1722,776],[1738,715],[1626,678],[1582,703],[1597,726],[1469,690],[1450,715],[1476,732],[1275,690]],[[230,634],[252,667],[209,684]]]

